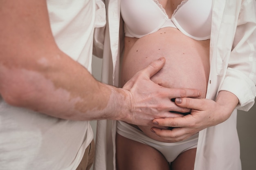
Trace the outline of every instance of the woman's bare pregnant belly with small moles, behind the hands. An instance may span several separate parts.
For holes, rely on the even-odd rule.
[[[193,40],[177,29],[168,27],[138,39],[131,48],[127,49],[126,46],[125,50],[121,69],[122,86],[150,62],[165,57],[164,67],[151,80],[168,88],[195,88],[202,91],[202,97],[205,97],[210,69],[209,40]],[[138,127],[149,137],[168,142],[152,133],[151,127]]]

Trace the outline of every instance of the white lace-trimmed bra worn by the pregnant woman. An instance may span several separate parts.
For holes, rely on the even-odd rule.
[[[211,35],[212,0],[183,0],[168,18],[157,0],[121,0],[125,35],[141,38],[164,27],[174,27],[195,40]]]

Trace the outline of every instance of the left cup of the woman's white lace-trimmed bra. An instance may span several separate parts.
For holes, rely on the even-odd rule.
[[[153,0],[121,0],[121,16],[125,29],[137,38],[159,30],[168,20]]]

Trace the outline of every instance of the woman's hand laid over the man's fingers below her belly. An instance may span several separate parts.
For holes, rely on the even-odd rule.
[[[156,135],[171,142],[182,141],[204,128],[226,121],[236,108],[238,98],[228,91],[220,91],[216,102],[211,99],[179,98],[175,103],[183,108],[191,108],[191,114],[153,120],[154,124],[174,127],[172,130],[151,128]]]

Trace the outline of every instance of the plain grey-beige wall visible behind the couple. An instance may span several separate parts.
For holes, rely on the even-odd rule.
[[[92,75],[100,80],[101,59],[93,57]],[[256,104],[249,112],[238,110],[238,135],[240,139],[241,161],[243,170],[256,170]],[[96,133],[96,121],[91,121]]]

